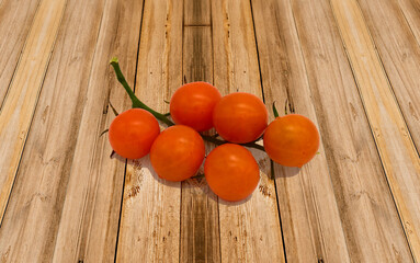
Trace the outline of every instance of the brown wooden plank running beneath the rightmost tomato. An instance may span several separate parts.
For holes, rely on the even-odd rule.
[[[265,104],[287,100],[318,126],[290,1],[252,1],[252,10]],[[350,262],[322,144],[303,169],[274,163],[274,174],[287,261]]]

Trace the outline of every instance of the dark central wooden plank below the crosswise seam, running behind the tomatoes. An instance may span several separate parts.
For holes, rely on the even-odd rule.
[[[209,10],[207,10],[209,14]],[[186,13],[184,13],[186,15]],[[213,82],[212,28],[185,26],[183,73],[188,82]],[[206,142],[206,151],[214,145]],[[198,174],[203,174],[203,169]],[[180,262],[220,262],[217,196],[205,178],[182,182]]]

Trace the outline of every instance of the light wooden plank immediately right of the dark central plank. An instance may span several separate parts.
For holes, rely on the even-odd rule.
[[[262,95],[252,14],[248,1],[212,1],[214,84],[224,94]],[[219,202],[222,262],[284,262],[274,181],[264,152],[252,151],[261,179],[252,196]]]

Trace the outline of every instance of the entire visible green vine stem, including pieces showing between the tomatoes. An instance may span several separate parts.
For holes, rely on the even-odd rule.
[[[115,71],[115,75],[116,75],[116,79],[118,80],[118,82],[124,87],[125,91],[127,92],[129,99],[132,100],[132,107],[135,108],[143,108],[143,110],[146,110],[148,111],[149,113],[151,113],[157,119],[161,121],[162,123],[164,123],[166,125],[168,125],[168,127],[170,126],[173,126],[174,123],[169,119],[168,117],[170,116],[170,113],[166,113],[166,114],[161,114],[159,112],[156,112],[155,110],[152,110],[151,107],[147,106],[144,102],[141,102],[137,96],[136,94],[133,92],[132,88],[128,85],[123,72],[121,71],[121,68],[120,68],[120,64],[118,64],[118,58],[116,57],[113,57],[110,61],[111,66],[114,68],[114,71]],[[166,103],[168,103],[167,101],[164,101]],[[111,105],[111,103],[110,103]],[[117,115],[115,108],[111,105],[111,107],[113,108],[114,111],[114,114]],[[213,135],[213,136],[208,136],[208,135],[203,135],[201,133],[198,133],[202,138],[204,140],[207,140],[209,142],[213,142],[217,146],[219,145],[224,145],[224,144],[228,144],[228,141],[225,141],[225,140],[220,140],[220,139],[217,139],[218,135]],[[261,145],[258,145],[256,144],[256,141],[260,140],[261,138],[258,138],[257,140],[254,141],[251,141],[251,142],[248,142],[248,144],[240,144],[241,146],[246,146],[246,147],[250,147],[250,148],[256,148],[256,149],[259,149],[259,150],[262,150],[262,151],[265,151],[264,150],[264,147],[261,146]]]

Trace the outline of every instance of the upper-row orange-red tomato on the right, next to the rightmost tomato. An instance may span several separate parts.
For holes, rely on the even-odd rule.
[[[246,144],[262,135],[268,124],[268,112],[258,96],[236,92],[222,98],[217,103],[213,123],[225,140]]]

